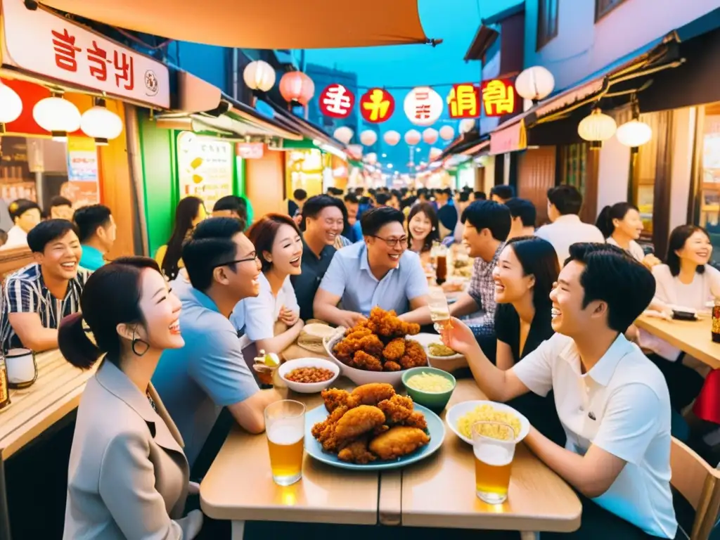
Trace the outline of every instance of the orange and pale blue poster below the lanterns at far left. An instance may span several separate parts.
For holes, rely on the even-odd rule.
[[[86,137],[68,138],[68,181],[60,186],[60,195],[70,199],[74,208],[99,204],[98,168],[95,141]]]

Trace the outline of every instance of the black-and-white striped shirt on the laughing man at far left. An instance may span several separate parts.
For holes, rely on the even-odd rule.
[[[22,341],[10,324],[9,313],[37,313],[45,328],[59,328],[63,317],[80,311],[80,296],[90,272],[78,268],[76,276],[68,282],[64,298],[55,298],[42,279],[39,264],[30,264],[11,274],[3,286],[2,343],[4,348],[22,347]]]

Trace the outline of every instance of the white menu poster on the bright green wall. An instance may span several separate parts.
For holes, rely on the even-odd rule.
[[[233,194],[233,143],[183,131],[177,148],[181,199],[199,197],[210,212],[217,199]]]

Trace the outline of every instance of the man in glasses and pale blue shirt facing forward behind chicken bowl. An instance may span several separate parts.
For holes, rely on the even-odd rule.
[[[391,207],[363,214],[365,241],[333,257],[315,294],[317,318],[349,328],[379,306],[410,323],[430,323],[428,280],[417,253],[408,251],[404,222],[402,212]]]

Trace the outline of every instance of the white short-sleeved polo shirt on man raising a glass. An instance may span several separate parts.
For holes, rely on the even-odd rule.
[[[532,392],[554,390],[566,449],[585,455],[594,444],[627,462],[595,503],[647,534],[675,538],[670,395],[660,369],[622,334],[584,375],[575,341],[562,334],[512,369]]]

